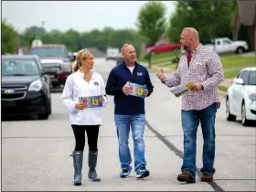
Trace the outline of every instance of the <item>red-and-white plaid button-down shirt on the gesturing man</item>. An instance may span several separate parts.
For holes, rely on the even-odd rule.
[[[175,87],[191,81],[202,84],[202,91],[187,91],[182,96],[182,110],[202,110],[214,102],[219,108],[218,88],[219,83],[224,80],[219,55],[201,44],[193,51],[189,65],[187,55],[188,51],[180,58],[176,72],[166,78],[165,85]]]

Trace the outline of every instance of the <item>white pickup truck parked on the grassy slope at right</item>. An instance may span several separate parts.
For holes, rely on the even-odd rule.
[[[220,37],[211,40],[211,43],[205,44],[208,48],[214,48],[217,53],[243,53],[248,50],[246,41],[232,41],[228,37]]]

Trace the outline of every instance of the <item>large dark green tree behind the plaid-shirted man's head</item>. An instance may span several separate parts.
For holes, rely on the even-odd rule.
[[[195,27],[202,43],[215,37],[231,37],[236,1],[179,1],[169,19],[168,37],[178,42],[184,27]]]

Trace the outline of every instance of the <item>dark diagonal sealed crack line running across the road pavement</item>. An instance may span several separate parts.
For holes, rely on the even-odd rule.
[[[173,151],[178,157],[183,159],[183,152],[180,151],[178,148],[176,148],[176,145],[172,144],[167,139],[165,139],[165,136],[163,136],[161,133],[158,133],[147,121],[145,121],[145,124],[151,132],[155,133],[156,137],[161,142],[163,142],[165,146],[167,146],[171,151]],[[197,176],[200,178],[202,177],[202,174],[198,168],[197,168]],[[219,187],[219,185],[214,181],[208,182],[208,185],[211,186],[215,191],[225,191],[223,188]]]

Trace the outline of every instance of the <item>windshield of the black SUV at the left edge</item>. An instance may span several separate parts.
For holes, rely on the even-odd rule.
[[[2,76],[38,75],[39,68],[35,59],[2,59]]]

